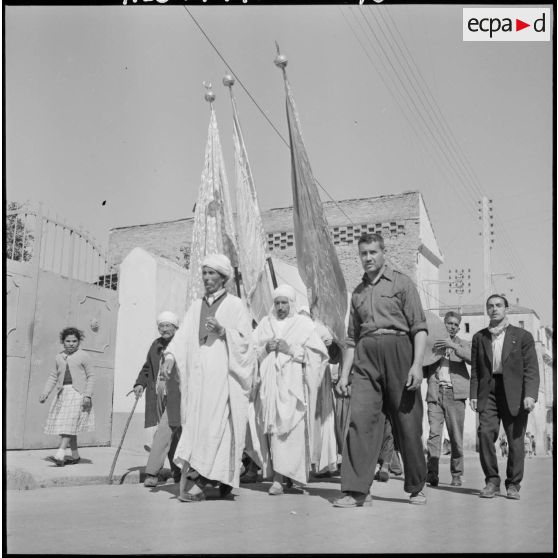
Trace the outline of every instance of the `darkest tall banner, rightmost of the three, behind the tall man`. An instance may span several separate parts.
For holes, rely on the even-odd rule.
[[[278,49],[279,50],[279,49]],[[287,122],[291,145],[293,219],[298,270],[306,288],[314,318],[332,331],[344,345],[346,337],[347,287],[327,224],[316,179],[312,174],[291,87],[287,80],[287,59],[278,53],[275,64],[283,71]]]

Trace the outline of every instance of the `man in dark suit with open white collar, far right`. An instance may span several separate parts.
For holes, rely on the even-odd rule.
[[[479,413],[479,455],[486,480],[480,497],[493,498],[500,492],[494,444],[502,422],[509,447],[507,497],[519,500],[527,418],[539,391],[537,353],[533,336],[508,323],[504,296],[488,297],[486,311],[490,325],[475,333],[471,351],[471,408]]]

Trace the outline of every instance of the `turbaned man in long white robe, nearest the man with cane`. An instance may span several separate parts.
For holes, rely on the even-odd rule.
[[[209,485],[218,485],[221,497],[239,486],[256,369],[252,320],[244,303],[225,290],[233,274],[229,259],[207,256],[201,273],[205,294],[188,308],[162,365],[170,370],[176,364],[182,390],[182,435],[174,457],[182,466],[182,502],[205,500]]]

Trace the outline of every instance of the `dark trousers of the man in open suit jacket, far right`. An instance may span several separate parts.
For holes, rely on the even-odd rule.
[[[516,417],[508,409],[504,382],[501,374],[494,374],[491,380],[490,393],[484,410],[479,413],[479,454],[481,467],[486,482],[500,486],[498,474],[498,458],[494,444],[498,439],[500,421],[508,439],[508,461],[506,468],[506,488],[513,484],[519,490],[523,479],[525,465],[525,447],[523,441],[527,430],[529,413],[521,409]]]

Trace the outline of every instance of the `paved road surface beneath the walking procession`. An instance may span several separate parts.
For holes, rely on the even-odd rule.
[[[370,508],[337,509],[339,479],[311,482],[309,495],[268,496],[244,485],[234,501],[181,503],[177,486],[98,485],[7,492],[10,553],[469,553],[552,552],[553,463],[526,461],[521,500],[478,497],[472,455],[463,487],[442,465],[428,504],[411,506],[400,478],[374,483]],[[503,463],[500,464],[501,470]],[[250,488],[248,488],[250,486]]]

